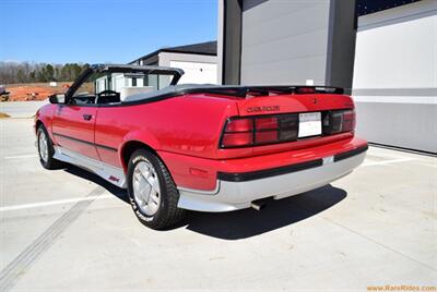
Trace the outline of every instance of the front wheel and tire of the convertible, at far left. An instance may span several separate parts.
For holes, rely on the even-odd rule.
[[[45,142],[44,142],[45,141]],[[55,148],[50,136],[44,125],[39,125],[36,132],[36,144],[38,148],[39,162],[45,169],[59,169],[63,163],[54,158]]]

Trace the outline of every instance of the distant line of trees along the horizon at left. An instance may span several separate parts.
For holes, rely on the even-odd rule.
[[[90,64],[83,63],[29,63],[0,62],[0,84],[71,82]]]

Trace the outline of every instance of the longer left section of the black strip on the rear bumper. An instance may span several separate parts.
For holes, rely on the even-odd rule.
[[[217,178],[222,181],[227,182],[246,182],[259,179],[265,179],[270,177],[292,173],[300,170],[306,170],[310,168],[321,167],[323,165],[323,159],[316,159],[311,161],[306,161],[303,163],[281,167],[281,168],[273,168],[273,169],[265,169],[252,172],[243,172],[243,173],[226,173],[226,172],[218,172]]]

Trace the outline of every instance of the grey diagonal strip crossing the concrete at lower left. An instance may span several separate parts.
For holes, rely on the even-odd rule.
[[[87,196],[97,196],[105,193],[105,188],[97,186]],[[94,202],[81,200],[74,204],[60,218],[58,218],[46,231],[43,232],[31,245],[16,256],[0,272],[0,291],[7,292],[14,287],[17,280],[31,268],[31,266],[46,252],[59,238],[59,235]]]

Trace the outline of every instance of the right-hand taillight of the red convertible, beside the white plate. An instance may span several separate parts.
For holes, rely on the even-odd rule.
[[[323,134],[332,135],[355,129],[355,110],[328,111],[323,117]]]

